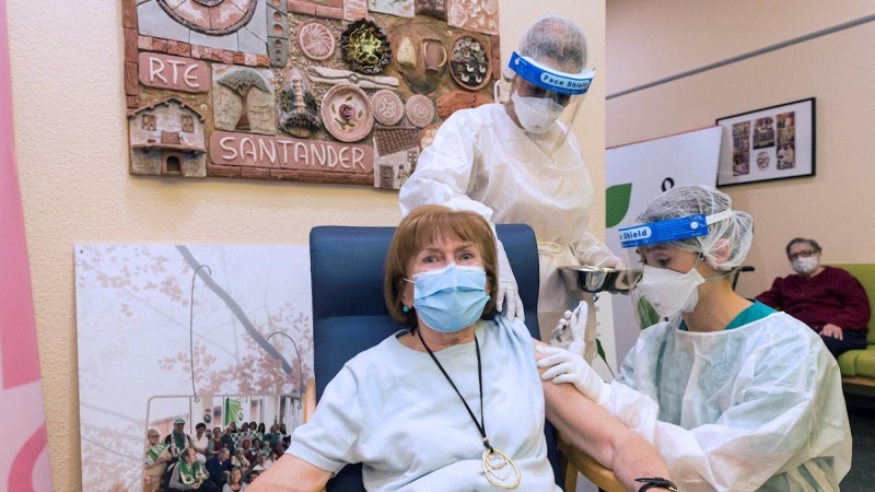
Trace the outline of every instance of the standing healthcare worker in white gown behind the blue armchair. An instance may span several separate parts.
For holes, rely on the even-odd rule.
[[[621,265],[586,232],[593,186],[570,133],[594,75],[585,65],[580,27],[558,15],[535,22],[504,70],[510,99],[454,113],[400,189],[402,215],[432,203],[475,211],[492,224],[533,227],[540,256],[538,323],[545,340],[562,314],[578,304],[559,267]],[[509,319],[522,319],[516,280],[500,243],[499,255],[497,307]],[[587,330],[587,337],[591,360],[595,329]]]

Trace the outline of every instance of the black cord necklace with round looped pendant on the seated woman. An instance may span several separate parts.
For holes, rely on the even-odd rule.
[[[446,380],[450,382],[450,386],[455,389],[456,395],[458,395],[462,403],[465,406],[465,409],[468,410],[468,414],[471,415],[474,424],[477,425],[477,430],[480,431],[480,436],[483,438],[483,447],[486,447],[482,457],[483,473],[486,475],[486,479],[489,480],[489,483],[502,489],[516,489],[520,485],[520,480],[522,479],[520,469],[516,467],[516,464],[513,461],[513,459],[511,459],[510,456],[505,455],[499,449],[495,449],[491,444],[489,444],[489,437],[486,434],[486,418],[483,417],[483,371],[480,362],[480,342],[477,340],[477,335],[474,336],[474,348],[477,353],[477,379],[480,385],[479,422],[477,421],[477,417],[475,417],[474,411],[468,406],[468,402],[465,401],[465,397],[462,396],[462,393],[456,387],[456,384],[453,383],[450,374],[446,373],[444,366],[441,365],[441,362],[438,361],[436,356],[434,356],[434,352],[432,352],[428,343],[425,343],[425,339],[422,338],[422,331],[419,329],[416,331],[419,336],[419,341],[422,342],[422,347],[425,348],[425,351],[429,352],[429,355],[431,355],[431,360],[434,361],[434,363],[438,365],[438,368],[441,370],[441,373],[443,373],[444,377],[446,377]]]

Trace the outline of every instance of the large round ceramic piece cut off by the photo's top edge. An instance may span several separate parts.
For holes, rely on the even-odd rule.
[[[158,4],[186,27],[224,36],[252,21],[258,0],[158,0]]]

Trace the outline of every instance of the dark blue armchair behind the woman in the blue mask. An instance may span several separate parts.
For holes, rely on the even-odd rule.
[[[497,233],[520,286],[526,326],[538,330],[538,248],[528,225],[498,225]],[[320,226],[310,233],[313,289],[313,348],[316,400],[359,352],[398,331],[383,300],[383,268],[395,227]],[[558,449],[547,423],[550,462],[561,484]],[[345,467],[328,482],[328,492],[363,492],[361,465]]]

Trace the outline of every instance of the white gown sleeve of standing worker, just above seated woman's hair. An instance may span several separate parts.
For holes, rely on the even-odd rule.
[[[490,223],[492,209],[466,195],[474,179],[477,125],[467,112],[456,112],[441,125],[434,141],[419,155],[413,174],[399,190],[401,216],[422,204],[470,210]]]

